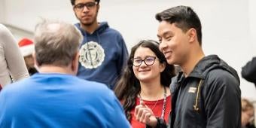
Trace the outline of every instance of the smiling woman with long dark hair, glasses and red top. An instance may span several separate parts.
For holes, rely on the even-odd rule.
[[[171,111],[169,84],[175,76],[175,68],[166,62],[158,49],[157,41],[143,40],[130,53],[123,75],[117,82],[114,93],[123,105],[127,119],[133,127],[145,127],[135,117],[135,108],[145,105],[152,118],[168,120]]]

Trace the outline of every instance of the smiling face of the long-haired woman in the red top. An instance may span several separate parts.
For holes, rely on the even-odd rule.
[[[156,57],[156,54],[148,47],[138,47],[134,53],[134,58],[136,59],[144,60],[148,56]],[[156,57],[151,66],[147,66],[144,61],[140,66],[133,66],[133,72],[141,82],[160,81],[160,72],[163,72],[164,68],[165,65],[160,63]]]

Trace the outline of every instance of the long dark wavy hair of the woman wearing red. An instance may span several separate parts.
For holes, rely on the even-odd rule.
[[[136,106],[136,96],[139,94],[141,87],[139,84],[139,80],[133,73],[133,62],[132,59],[134,57],[134,53],[136,52],[138,47],[147,47],[151,49],[160,59],[160,63],[166,63],[166,68],[163,72],[160,73],[160,84],[164,87],[169,87],[171,83],[171,78],[175,76],[175,68],[173,65],[169,65],[166,61],[165,56],[159,50],[159,44],[157,41],[153,40],[143,40],[139,41],[136,44],[130,53],[130,57],[127,61],[127,66],[123,71],[120,80],[117,81],[117,85],[114,88],[114,93],[116,94],[117,98],[122,102],[123,109],[126,114],[126,118],[130,120],[130,111],[132,108]]]

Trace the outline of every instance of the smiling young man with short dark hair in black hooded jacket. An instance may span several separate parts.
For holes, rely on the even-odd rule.
[[[170,85],[169,123],[154,117],[145,105],[136,106],[136,120],[161,128],[241,128],[239,77],[217,55],[205,56],[197,14],[190,7],[177,6],[160,12],[156,19],[160,50],[182,72]]]

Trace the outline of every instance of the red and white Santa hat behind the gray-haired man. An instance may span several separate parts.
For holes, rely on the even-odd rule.
[[[35,45],[28,38],[23,38],[19,42],[19,47],[23,56],[29,56],[33,53]]]

